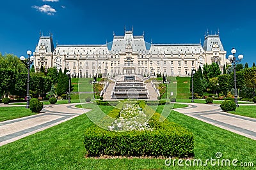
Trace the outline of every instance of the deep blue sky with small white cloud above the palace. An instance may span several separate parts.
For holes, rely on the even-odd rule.
[[[0,52],[18,57],[32,52],[39,33],[53,34],[54,45],[104,44],[124,34],[145,31],[153,43],[202,43],[204,32],[218,32],[227,56],[234,46],[242,63],[256,62],[256,1],[1,1]]]

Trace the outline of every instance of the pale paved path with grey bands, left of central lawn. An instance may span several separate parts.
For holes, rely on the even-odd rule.
[[[44,129],[61,124],[90,111],[76,108],[75,105],[77,104],[79,103],[45,105],[44,109],[36,115],[0,122],[0,146],[35,134],[36,132],[44,131]]]

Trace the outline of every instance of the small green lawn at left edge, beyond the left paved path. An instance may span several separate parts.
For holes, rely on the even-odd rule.
[[[0,107],[0,122],[35,114],[37,113],[32,113],[31,110],[25,107]]]

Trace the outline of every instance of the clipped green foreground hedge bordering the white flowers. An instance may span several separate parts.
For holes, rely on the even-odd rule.
[[[89,156],[121,155],[121,156],[193,156],[193,134],[178,124],[164,120],[143,101],[138,102],[146,115],[154,114],[148,124],[153,131],[107,131],[93,125],[84,132],[84,147]],[[116,117],[120,110],[111,112]]]

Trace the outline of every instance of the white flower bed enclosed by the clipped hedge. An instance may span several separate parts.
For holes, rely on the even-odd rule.
[[[122,110],[120,111],[120,117],[116,119],[109,131],[153,131],[148,125],[147,115],[143,113],[138,104],[131,103],[131,101],[125,102]]]

